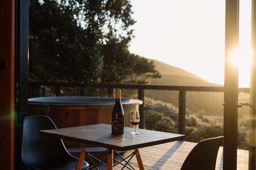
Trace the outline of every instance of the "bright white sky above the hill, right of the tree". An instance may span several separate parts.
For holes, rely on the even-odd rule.
[[[224,83],[225,1],[131,0],[131,4],[137,21],[132,53],[177,66],[212,83]],[[239,47],[247,50],[250,1],[241,1],[240,8]],[[249,87],[250,64],[238,63],[239,87]]]

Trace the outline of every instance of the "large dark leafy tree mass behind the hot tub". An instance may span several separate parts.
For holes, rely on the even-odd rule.
[[[129,52],[129,0],[30,0],[29,77],[34,81],[147,83],[153,63]]]

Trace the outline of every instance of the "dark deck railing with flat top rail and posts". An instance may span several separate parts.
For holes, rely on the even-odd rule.
[[[78,96],[86,96],[86,88],[105,88],[107,89],[107,96],[113,97],[115,88],[121,89],[137,89],[138,99],[143,101],[145,97],[145,90],[172,90],[178,91],[178,108],[179,108],[179,123],[178,132],[185,134],[185,115],[186,115],[186,92],[223,92],[224,88],[221,86],[166,86],[166,85],[148,85],[148,84],[93,84],[93,83],[50,83],[50,82],[30,82],[29,83],[29,98],[44,96],[40,90],[42,87],[54,87],[54,96],[61,96],[61,87],[73,87],[79,89]],[[249,88],[239,88],[238,91],[249,92]],[[143,104],[139,106],[141,113],[140,128],[143,128],[144,114]]]

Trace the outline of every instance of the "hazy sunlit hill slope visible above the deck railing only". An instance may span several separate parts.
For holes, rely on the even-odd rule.
[[[210,83],[197,75],[180,69],[178,67],[149,59],[153,61],[156,70],[162,74],[161,79],[150,79],[149,84],[161,85],[183,85],[183,86],[221,86],[220,84]]]

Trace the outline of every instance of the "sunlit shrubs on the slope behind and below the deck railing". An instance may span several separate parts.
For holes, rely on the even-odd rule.
[[[169,103],[150,98],[144,104],[145,128],[164,132],[178,132],[178,108]],[[239,123],[237,146],[248,149],[246,120]],[[223,135],[223,125],[204,116],[203,111],[197,113],[186,111],[186,141],[199,142],[206,138]]]

